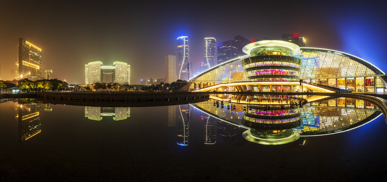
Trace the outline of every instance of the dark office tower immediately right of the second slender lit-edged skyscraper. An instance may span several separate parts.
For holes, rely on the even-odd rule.
[[[238,57],[238,49],[234,40],[218,43],[218,64]]]

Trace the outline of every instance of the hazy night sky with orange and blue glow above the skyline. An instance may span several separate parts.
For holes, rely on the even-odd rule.
[[[19,37],[42,49],[42,75],[53,69],[54,78],[83,84],[84,64],[122,61],[139,84],[164,78],[164,57],[177,55],[179,36],[189,37],[196,71],[204,37],[218,43],[236,35],[280,39],[282,33],[298,33],[307,47],[346,52],[387,72],[387,13],[377,1],[195,2],[0,0],[1,77],[11,79],[16,68]]]

